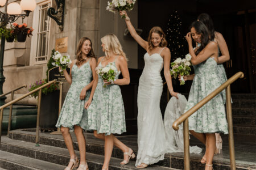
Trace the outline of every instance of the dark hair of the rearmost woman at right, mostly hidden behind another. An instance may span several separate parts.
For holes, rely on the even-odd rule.
[[[208,28],[208,31],[210,34],[210,40],[213,41],[214,37],[215,37],[215,35],[214,35],[215,30],[214,30],[213,21],[212,21],[212,18],[210,18],[210,15],[208,15],[206,13],[200,14],[197,17],[197,20],[200,20],[200,22],[205,24],[205,26]]]

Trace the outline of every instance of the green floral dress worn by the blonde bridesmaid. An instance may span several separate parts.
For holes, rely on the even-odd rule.
[[[115,61],[108,63],[110,64],[115,66]],[[102,67],[101,62],[98,67]],[[120,71],[115,79],[118,79],[119,74]],[[122,134],[126,131],[126,125],[121,89],[117,84],[110,84],[106,87],[103,85],[103,79],[98,75],[98,84],[88,108],[89,129],[97,130],[97,133],[105,133],[105,135]]]

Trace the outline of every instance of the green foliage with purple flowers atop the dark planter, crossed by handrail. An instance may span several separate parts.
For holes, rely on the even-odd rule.
[[[47,79],[36,81],[35,83],[30,85],[30,89],[28,91],[35,90],[36,88],[41,87],[46,83],[47,83]],[[52,83],[52,84],[48,85],[47,87],[42,88],[42,94],[47,95],[47,94],[49,94],[55,90],[58,90],[58,89],[59,89],[59,85],[56,83]],[[35,92],[31,96],[36,98],[38,96],[38,93],[39,93],[39,91]]]

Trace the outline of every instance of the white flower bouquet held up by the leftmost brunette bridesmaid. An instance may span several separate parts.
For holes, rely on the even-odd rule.
[[[64,70],[68,68],[68,64],[72,63],[70,56],[62,56],[60,52],[56,51],[52,56],[55,62],[52,62],[53,66],[60,67],[60,73],[62,74]]]

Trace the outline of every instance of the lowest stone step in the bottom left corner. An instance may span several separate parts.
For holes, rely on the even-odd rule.
[[[63,170],[65,166],[0,151],[0,167],[9,170]]]

